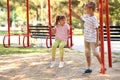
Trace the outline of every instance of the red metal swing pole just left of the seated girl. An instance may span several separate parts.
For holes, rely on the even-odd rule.
[[[50,11],[50,0],[48,0],[48,20],[49,23],[49,35],[50,35],[50,46],[52,46],[52,31],[51,31],[51,11]]]

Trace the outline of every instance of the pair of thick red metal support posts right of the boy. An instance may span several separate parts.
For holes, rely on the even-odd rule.
[[[108,0],[105,1],[106,9],[106,30],[107,30],[107,45],[108,45],[108,61],[109,67],[112,67],[112,55],[111,55],[111,40],[110,40],[110,25],[109,25],[109,9]],[[99,0],[99,15],[100,15],[100,41],[101,41],[101,72],[105,74],[105,61],[104,61],[104,31],[103,31],[103,0]]]

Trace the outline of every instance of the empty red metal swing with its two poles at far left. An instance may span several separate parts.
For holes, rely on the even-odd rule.
[[[10,4],[9,4],[9,0],[7,0],[7,16],[8,16],[8,34],[4,36],[3,38],[3,46],[5,48],[9,48],[11,45],[11,36],[18,36],[18,43],[20,45],[20,37],[23,36],[23,47],[29,47],[30,43],[29,43],[29,11],[28,11],[28,0],[26,0],[26,23],[27,23],[27,34],[11,34],[10,33]],[[5,44],[5,40],[8,37],[8,45]],[[27,37],[27,46],[25,46],[25,37]]]

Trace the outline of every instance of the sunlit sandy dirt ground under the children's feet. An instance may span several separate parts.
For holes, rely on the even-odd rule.
[[[105,54],[106,74],[99,73],[100,66],[92,56],[91,74],[82,74],[86,61],[84,53],[65,52],[65,66],[58,68],[57,64],[50,68],[50,53],[11,54],[0,56],[0,80],[120,80],[120,55],[113,55],[113,67],[108,67],[107,54]]]

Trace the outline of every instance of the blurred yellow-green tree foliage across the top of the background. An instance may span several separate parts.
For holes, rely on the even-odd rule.
[[[0,8],[6,10],[6,1],[0,0]],[[72,0],[72,8],[78,14],[84,13],[83,5],[90,0]],[[98,0],[95,1],[98,4]],[[42,9],[41,9],[42,7]],[[22,18],[26,22],[26,3],[25,0],[10,0],[10,9],[11,9],[11,18],[14,20],[17,17]],[[109,9],[110,9],[110,20],[111,22],[120,25],[120,0],[109,0]],[[13,11],[16,14],[12,13]],[[51,0],[51,18],[52,21],[55,21],[55,17],[58,14],[66,14],[69,20],[69,8],[68,0]],[[7,13],[0,15],[0,21],[7,21]],[[47,0],[29,0],[29,19],[30,22],[34,21],[36,17],[37,20],[47,21]],[[79,20],[73,18],[73,25],[78,27],[80,23]]]

